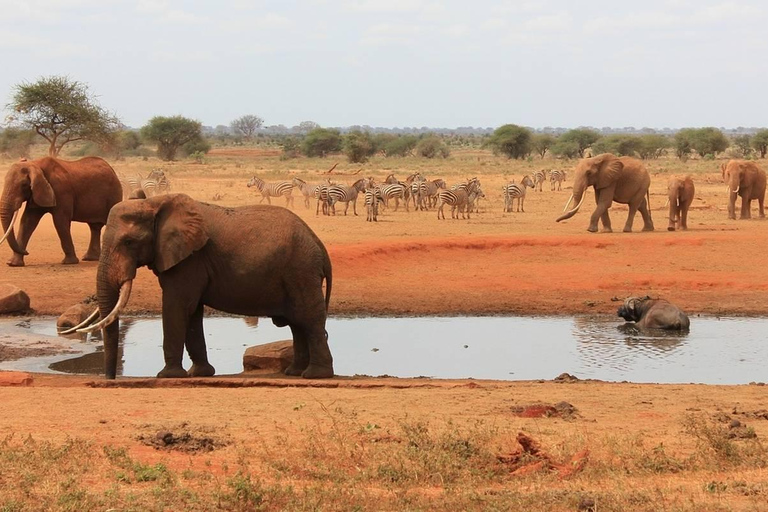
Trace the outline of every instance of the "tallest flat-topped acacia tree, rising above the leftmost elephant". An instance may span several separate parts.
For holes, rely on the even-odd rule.
[[[88,86],[65,76],[50,76],[21,83],[6,108],[11,124],[35,131],[48,141],[48,154],[57,156],[66,144],[78,140],[109,141],[120,120],[99,106]]]

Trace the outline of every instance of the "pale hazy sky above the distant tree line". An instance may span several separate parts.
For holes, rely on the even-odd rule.
[[[0,0],[0,106],[66,75],[133,127],[767,126],[766,27],[758,0]]]

